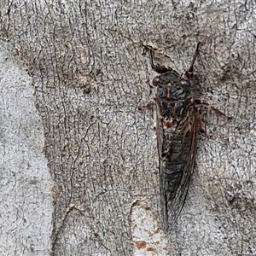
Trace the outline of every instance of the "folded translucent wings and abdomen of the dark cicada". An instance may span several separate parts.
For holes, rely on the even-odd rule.
[[[198,123],[195,108],[191,108],[180,123],[173,133],[164,129],[161,121],[158,125],[160,204],[166,232],[172,230],[183,208],[194,171]]]

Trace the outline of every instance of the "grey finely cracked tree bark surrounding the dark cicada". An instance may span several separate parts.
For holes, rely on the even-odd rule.
[[[0,1],[0,252],[255,255],[255,12],[253,1]],[[204,99],[234,119],[208,115],[213,136],[200,137],[168,241],[154,112],[137,110],[152,97],[141,44],[183,73],[199,41]]]

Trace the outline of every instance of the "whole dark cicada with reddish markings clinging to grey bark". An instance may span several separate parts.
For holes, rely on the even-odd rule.
[[[154,65],[152,50],[148,49],[151,67],[160,75],[153,79],[153,85],[157,87],[156,96],[139,109],[150,108],[154,103],[157,106],[160,205],[166,232],[172,230],[188,194],[195,166],[198,131],[211,137],[205,130],[201,108],[207,106],[213,112],[231,119],[217,108],[193,96],[189,79],[193,76],[200,44],[197,44],[189,70],[183,75],[179,75],[172,67]]]

